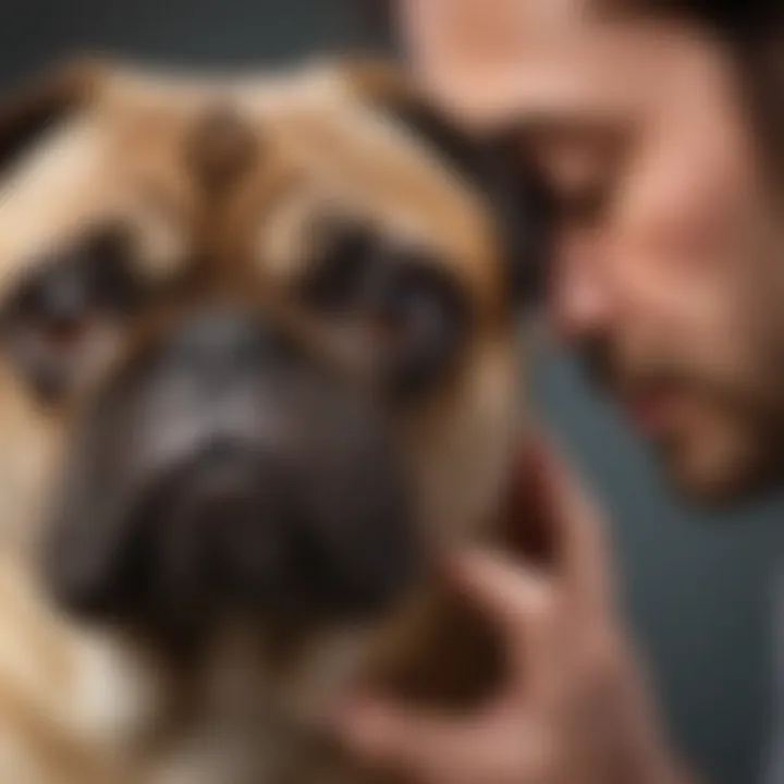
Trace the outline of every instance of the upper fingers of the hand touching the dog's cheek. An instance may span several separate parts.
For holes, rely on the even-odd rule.
[[[559,625],[614,617],[603,520],[552,448],[535,444],[520,455],[513,480],[513,516],[520,542],[541,540],[536,563],[489,551],[452,556],[448,575],[500,629],[512,671],[544,670],[558,646]],[[525,542],[522,547],[530,552]]]

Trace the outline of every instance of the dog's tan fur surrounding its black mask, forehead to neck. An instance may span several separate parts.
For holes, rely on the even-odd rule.
[[[360,216],[430,247],[470,292],[477,318],[458,373],[399,432],[421,524],[444,539],[488,538],[517,434],[497,237],[478,196],[369,106],[393,85],[384,70],[323,63],[232,78],[83,66],[57,87],[73,111],[0,175],[0,301],[42,253],[112,217],[133,222],[139,264],[157,285],[207,250],[216,280],[233,269],[238,289],[279,303],[303,273],[307,243],[318,242],[319,216]],[[229,135],[196,139],[199,123],[225,110]],[[187,155],[195,144],[201,151]],[[222,172],[220,183],[205,180],[203,164],[210,177]],[[445,611],[438,591],[417,595],[380,637],[335,634],[286,671],[242,628],[228,626],[208,664],[182,673],[134,639],[60,616],[35,559],[71,416],[37,407],[0,354],[0,781],[362,781],[302,721],[357,667],[452,701],[471,690],[467,678],[477,685],[494,672],[475,624]],[[465,661],[442,666],[445,647]]]

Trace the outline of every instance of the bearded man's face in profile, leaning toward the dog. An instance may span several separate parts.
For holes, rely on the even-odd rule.
[[[784,444],[781,203],[728,57],[685,25],[566,24],[546,0],[523,3],[528,25],[503,0],[480,24],[470,4],[403,3],[413,63],[467,121],[531,140],[562,209],[560,332],[679,487],[713,498],[770,479]]]

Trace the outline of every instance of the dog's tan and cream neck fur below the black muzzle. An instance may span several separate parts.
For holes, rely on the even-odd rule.
[[[51,760],[68,754],[77,776],[72,782],[54,769],[14,781],[281,784],[331,782],[330,771],[346,776],[348,763],[329,735],[281,707],[280,684],[260,665],[257,640],[226,627],[198,664],[174,666],[133,637],[63,617],[35,569],[8,555],[0,549],[0,689],[16,694],[2,695],[0,728],[2,708],[24,706],[25,734]],[[380,664],[382,681],[406,697],[439,702],[473,699],[477,688],[483,694],[495,673],[483,627],[439,589],[417,597],[415,609]],[[346,640],[338,641],[336,659],[351,667]],[[340,689],[345,682],[321,666],[318,683]],[[301,685],[308,700],[318,688]],[[366,774],[340,775],[335,781],[359,782]]]

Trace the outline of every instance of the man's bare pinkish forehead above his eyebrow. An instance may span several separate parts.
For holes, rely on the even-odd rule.
[[[473,46],[471,27],[453,25],[448,17],[460,14],[436,2],[443,7],[440,29],[409,34],[425,90],[479,130],[515,123],[611,127],[654,112],[700,61],[716,59],[705,30],[674,17],[636,14],[627,5],[621,15],[608,11],[611,3],[580,3],[596,13],[573,7],[563,22],[544,24],[540,3],[482,5],[498,19],[485,24]],[[497,47],[487,40],[493,35]]]

